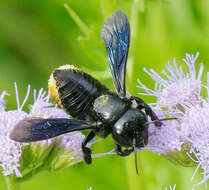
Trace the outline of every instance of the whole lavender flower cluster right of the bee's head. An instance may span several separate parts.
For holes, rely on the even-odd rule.
[[[148,148],[176,164],[197,165],[194,175],[202,168],[203,180],[196,185],[209,179],[209,73],[208,84],[204,85],[203,65],[200,64],[199,69],[195,65],[198,56],[199,53],[186,54],[183,62],[187,72],[175,59],[161,74],[144,69],[155,81],[155,88],[152,90],[139,80],[137,86],[145,91],[139,94],[156,97],[152,105],[160,119],[178,118],[163,121],[160,129],[150,125]],[[206,98],[201,95],[204,88],[208,92]]]

